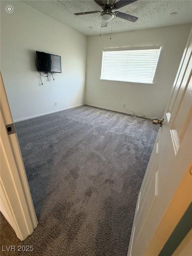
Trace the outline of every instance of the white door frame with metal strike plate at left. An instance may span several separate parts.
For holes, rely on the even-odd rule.
[[[14,229],[17,237],[24,240],[37,227],[37,218],[19,148],[17,134],[9,109],[2,76],[0,74],[0,211]],[[7,126],[7,127],[6,127]]]

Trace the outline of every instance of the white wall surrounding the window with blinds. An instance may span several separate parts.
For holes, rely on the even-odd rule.
[[[89,36],[86,104],[162,118],[191,24]],[[162,45],[154,84],[100,80],[102,49]],[[125,108],[123,108],[125,104]]]

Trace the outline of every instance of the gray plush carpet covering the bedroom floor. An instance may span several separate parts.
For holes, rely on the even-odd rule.
[[[81,106],[16,123],[39,220],[19,241],[1,216],[1,255],[126,256],[137,195],[158,127]]]

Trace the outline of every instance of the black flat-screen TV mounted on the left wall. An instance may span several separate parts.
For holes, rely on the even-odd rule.
[[[61,73],[61,56],[36,51],[39,72]]]

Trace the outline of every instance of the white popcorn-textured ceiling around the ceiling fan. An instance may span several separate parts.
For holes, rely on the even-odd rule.
[[[82,16],[74,15],[76,12],[102,11],[101,7],[93,0],[29,0],[23,2],[85,35],[98,35],[100,33],[101,18],[99,13]],[[112,33],[192,22],[192,0],[139,0],[118,10],[137,16],[139,19],[132,23],[114,17]],[[171,16],[172,12],[178,14]],[[90,29],[90,26],[93,28]],[[102,34],[110,32],[111,21],[106,28],[101,29]]]

